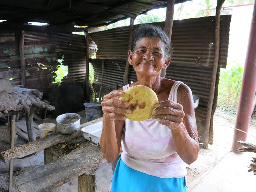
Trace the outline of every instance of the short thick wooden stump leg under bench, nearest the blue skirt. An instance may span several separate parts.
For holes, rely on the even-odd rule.
[[[95,182],[95,174],[80,175],[78,177],[78,192],[96,192],[97,185]]]

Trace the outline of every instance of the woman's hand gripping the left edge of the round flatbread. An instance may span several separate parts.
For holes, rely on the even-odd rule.
[[[101,102],[104,119],[123,121],[127,119],[123,114],[131,113],[131,110],[127,109],[129,103],[119,99],[124,94],[125,92],[122,90],[115,90],[104,95],[103,101]]]

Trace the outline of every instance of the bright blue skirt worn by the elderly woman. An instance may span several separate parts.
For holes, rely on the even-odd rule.
[[[128,167],[118,160],[111,192],[187,192],[185,177],[160,178]]]

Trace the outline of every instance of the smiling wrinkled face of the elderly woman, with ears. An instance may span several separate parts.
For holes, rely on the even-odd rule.
[[[129,51],[128,59],[135,72],[144,76],[155,76],[170,63],[170,57],[165,59],[165,43],[149,37],[137,41],[134,53]]]

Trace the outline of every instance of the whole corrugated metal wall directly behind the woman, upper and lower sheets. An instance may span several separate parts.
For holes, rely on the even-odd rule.
[[[219,68],[226,68],[229,26],[231,15],[222,15],[220,22],[220,61]],[[206,109],[208,105],[212,68],[214,61],[214,17],[184,19],[173,22],[172,43],[174,46],[170,66],[167,68],[166,78],[183,81],[194,95],[197,95],[199,106],[195,109],[199,140],[205,129]],[[152,23],[164,26],[164,23]],[[137,26],[135,26],[136,28]],[[104,87],[102,94],[117,87],[123,86],[123,74],[127,57],[129,27],[110,29],[103,32],[91,33],[93,41],[97,44],[96,57],[91,59],[94,66],[94,88],[98,92],[101,82],[101,59],[105,59]],[[112,58],[112,59],[110,59]],[[136,81],[136,73],[130,67],[129,82]],[[217,83],[219,73],[217,74]],[[214,95],[213,113],[210,124],[209,143],[213,143],[213,114],[217,104],[217,86]]]

